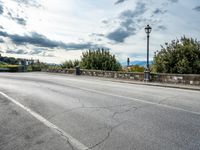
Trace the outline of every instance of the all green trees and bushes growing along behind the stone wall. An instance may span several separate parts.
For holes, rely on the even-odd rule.
[[[81,69],[144,72],[145,67],[132,65],[122,67],[115,55],[109,50],[96,49],[87,50],[82,53],[80,60],[67,60],[61,65],[46,64],[39,60],[15,59],[13,57],[2,57],[0,55],[0,70],[6,69],[17,71],[41,71],[42,69]],[[154,73],[178,73],[178,74],[200,74],[200,42],[185,36],[181,39],[165,43],[161,50],[154,56],[150,66]]]

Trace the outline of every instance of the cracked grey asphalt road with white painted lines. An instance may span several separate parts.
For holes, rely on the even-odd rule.
[[[1,150],[198,150],[200,92],[0,73]]]

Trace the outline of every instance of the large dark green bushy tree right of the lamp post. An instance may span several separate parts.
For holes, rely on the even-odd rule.
[[[153,67],[160,73],[200,74],[200,42],[183,36],[161,46]]]

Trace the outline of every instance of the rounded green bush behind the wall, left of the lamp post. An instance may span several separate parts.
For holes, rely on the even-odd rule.
[[[110,54],[110,52],[105,49],[83,52],[80,65],[81,68],[94,70],[119,71],[122,69],[115,55]]]

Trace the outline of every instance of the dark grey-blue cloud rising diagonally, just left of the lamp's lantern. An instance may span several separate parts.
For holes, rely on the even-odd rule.
[[[137,30],[136,18],[146,11],[145,3],[137,3],[135,10],[126,10],[119,15],[120,24],[117,29],[108,33],[106,37],[116,43],[123,43],[126,38],[135,35]]]

